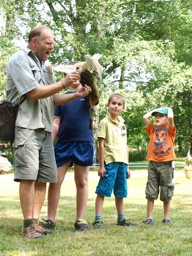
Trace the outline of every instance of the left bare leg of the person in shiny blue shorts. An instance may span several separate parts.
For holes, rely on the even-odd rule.
[[[69,168],[70,163],[71,163],[71,160],[59,166],[57,168],[57,176],[58,176],[57,182],[49,183],[47,218],[50,219],[53,223],[55,222],[57,206],[60,198],[61,185],[63,183],[65,174],[67,172],[67,169]]]

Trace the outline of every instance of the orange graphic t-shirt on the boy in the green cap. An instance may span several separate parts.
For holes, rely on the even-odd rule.
[[[167,129],[159,130],[150,122],[149,127],[145,131],[150,135],[147,160],[166,162],[176,159],[174,152],[175,126],[173,130],[171,130],[169,125]]]

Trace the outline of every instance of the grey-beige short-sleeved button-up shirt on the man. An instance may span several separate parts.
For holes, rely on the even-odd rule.
[[[7,63],[7,101],[21,102],[31,90],[55,83],[53,71],[40,62],[28,48],[21,47]],[[52,132],[54,103],[53,96],[40,100],[27,98],[19,107],[15,126],[28,129],[45,128]]]

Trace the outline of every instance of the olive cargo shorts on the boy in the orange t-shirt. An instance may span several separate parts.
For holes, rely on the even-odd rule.
[[[172,199],[174,192],[172,178],[172,161],[150,161],[148,164],[148,181],[145,189],[146,199],[151,201],[157,200],[160,187],[160,200],[163,202],[169,202]]]

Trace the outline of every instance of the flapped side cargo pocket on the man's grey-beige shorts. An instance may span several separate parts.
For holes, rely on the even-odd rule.
[[[28,166],[27,160],[27,140],[14,141],[13,145],[15,167]]]

